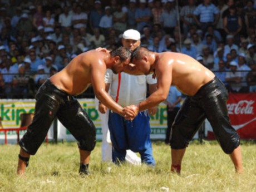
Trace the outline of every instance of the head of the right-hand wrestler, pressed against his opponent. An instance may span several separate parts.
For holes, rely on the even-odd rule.
[[[150,72],[150,56],[152,51],[149,51],[145,47],[137,47],[131,54],[131,63],[128,66],[131,74],[134,75],[148,75]],[[127,67],[127,66],[126,66]]]

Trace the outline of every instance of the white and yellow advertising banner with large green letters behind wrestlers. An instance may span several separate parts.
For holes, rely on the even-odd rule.
[[[96,126],[97,139],[101,140],[101,120],[99,112],[95,109],[94,99],[78,99],[83,109],[87,112]],[[3,129],[18,128],[20,127],[21,120],[19,119],[22,113],[31,113],[35,111],[35,100],[1,100],[0,101],[0,116],[2,117]],[[157,113],[150,117],[151,125],[151,139],[164,139],[165,130],[167,127],[167,112],[166,105],[160,104],[157,109]],[[58,121],[57,122],[57,134],[58,139],[63,140],[75,140],[70,132]],[[20,135],[26,132],[21,131]],[[16,131],[8,131],[7,134],[8,143],[17,142]],[[48,132],[48,139],[53,138],[53,125]],[[3,143],[4,132],[0,132],[0,143]]]

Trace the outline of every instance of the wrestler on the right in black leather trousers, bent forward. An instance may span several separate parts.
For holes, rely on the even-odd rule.
[[[170,85],[176,86],[187,95],[175,118],[170,136],[171,171],[180,174],[186,147],[205,118],[213,127],[223,151],[230,154],[235,171],[243,171],[240,137],[228,117],[228,91],[213,72],[188,55],[173,52],[156,53],[144,47],[135,49],[131,63],[133,64],[130,64],[125,72],[133,75],[154,73],[157,77],[157,90],[139,105],[132,105],[126,109],[139,112],[160,104],[166,100]]]

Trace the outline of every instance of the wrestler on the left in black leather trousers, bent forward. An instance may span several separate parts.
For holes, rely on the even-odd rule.
[[[76,95],[91,84],[97,98],[109,109],[125,116],[123,107],[105,91],[104,76],[107,68],[122,72],[130,62],[131,52],[119,47],[111,52],[88,51],[75,57],[62,71],[53,75],[36,94],[35,117],[26,134],[19,141],[17,174],[24,175],[30,155],[35,155],[45,139],[55,117],[78,141],[80,174],[88,174],[91,151],[96,144],[93,122],[82,109]],[[130,113],[132,116],[132,113]],[[126,114],[129,116],[129,112]]]

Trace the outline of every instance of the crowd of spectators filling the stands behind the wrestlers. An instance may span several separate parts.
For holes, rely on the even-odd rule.
[[[229,91],[256,92],[256,1],[0,2],[0,98],[34,98],[76,55],[120,46],[129,28],[149,50],[194,57]]]

